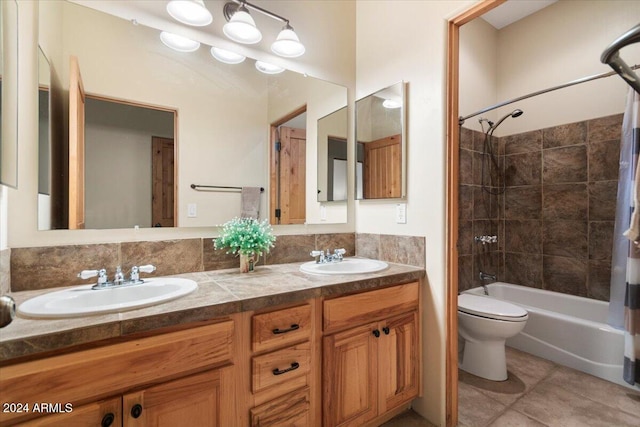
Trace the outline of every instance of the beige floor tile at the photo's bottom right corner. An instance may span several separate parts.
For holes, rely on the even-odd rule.
[[[512,409],[550,427],[637,427],[638,417],[542,381]]]

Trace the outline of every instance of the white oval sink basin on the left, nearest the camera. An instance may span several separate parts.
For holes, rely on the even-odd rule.
[[[140,285],[96,290],[91,286],[83,285],[31,298],[20,304],[18,314],[55,318],[113,313],[179,298],[193,292],[198,284],[189,279],[157,277],[145,279]]]

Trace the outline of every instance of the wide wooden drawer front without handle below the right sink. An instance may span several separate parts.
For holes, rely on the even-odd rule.
[[[330,299],[323,305],[324,332],[335,332],[418,308],[418,282]]]

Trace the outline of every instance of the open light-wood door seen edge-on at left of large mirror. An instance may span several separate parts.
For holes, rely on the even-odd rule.
[[[69,64],[69,229],[84,228],[85,93],[78,58]]]

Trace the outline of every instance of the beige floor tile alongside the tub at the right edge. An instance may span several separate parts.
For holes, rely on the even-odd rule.
[[[634,391],[564,366],[558,367],[544,381],[635,415],[640,420],[640,391]],[[640,421],[638,421],[638,425],[640,425]]]

